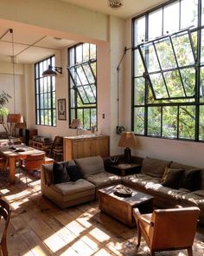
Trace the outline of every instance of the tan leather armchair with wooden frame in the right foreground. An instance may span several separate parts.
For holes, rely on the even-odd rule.
[[[140,246],[141,234],[150,247],[150,255],[155,252],[188,249],[193,255],[194,234],[200,209],[198,207],[180,207],[158,209],[150,214],[141,214],[137,208],[133,215],[137,222],[137,246]]]

